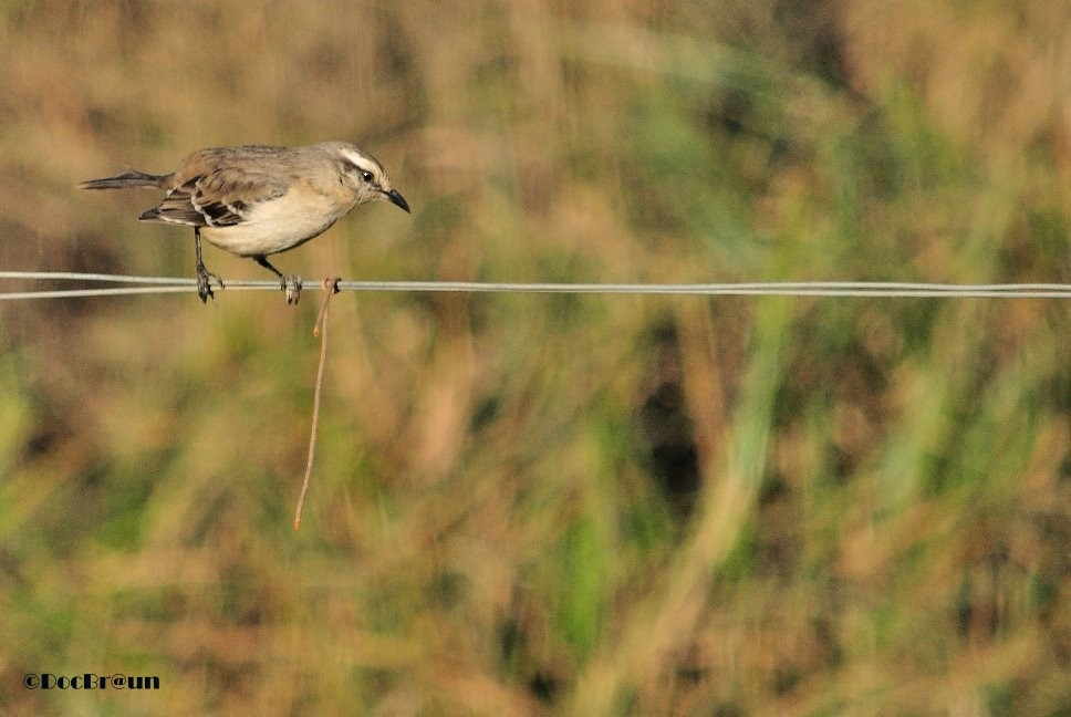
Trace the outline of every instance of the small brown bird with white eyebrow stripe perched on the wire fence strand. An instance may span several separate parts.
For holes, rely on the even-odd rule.
[[[268,261],[270,254],[319,237],[357,205],[385,200],[409,211],[383,165],[349,142],[209,147],[187,155],[169,174],[132,169],[79,187],[163,189],[160,204],[138,219],[194,228],[197,295],[202,303],[215,299],[212,280],[223,288],[219,274],[205,268],[202,235],[209,243],[272,271],[287,302],[297,303],[300,277],[284,276]]]

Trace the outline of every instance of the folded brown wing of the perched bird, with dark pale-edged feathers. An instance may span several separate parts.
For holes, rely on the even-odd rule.
[[[164,201],[139,219],[190,227],[231,227],[249,219],[252,208],[287,194],[285,177],[248,166],[214,166],[193,176],[176,174]]]

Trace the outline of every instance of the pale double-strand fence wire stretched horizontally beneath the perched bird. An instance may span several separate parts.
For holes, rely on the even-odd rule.
[[[52,271],[0,271],[0,280],[87,281],[147,284],[106,289],[62,289],[0,292],[0,301],[60,299],[152,293],[194,292],[195,279]],[[341,281],[344,291],[416,291],[469,293],[590,293],[590,294],[689,294],[689,295],[781,295],[857,298],[999,298],[1071,299],[1071,284],[996,283],[953,284],[905,281],[781,281],[736,283],[523,283],[482,281]],[[278,281],[227,281],[226,290],[279,291]]]

